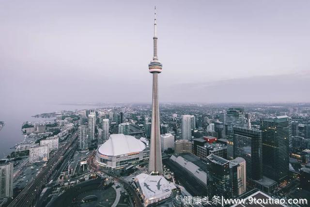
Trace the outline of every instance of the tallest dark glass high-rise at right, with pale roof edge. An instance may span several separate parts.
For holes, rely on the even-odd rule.
[[[277,182],[289,173],[288,116],[261,119],[263,174]]]

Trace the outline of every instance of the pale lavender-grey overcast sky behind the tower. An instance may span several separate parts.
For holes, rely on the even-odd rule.
[[[0,0],[0,101],[310,101],[309,0]]]

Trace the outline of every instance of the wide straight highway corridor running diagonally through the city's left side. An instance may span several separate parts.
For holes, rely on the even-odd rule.
[[[30,207],[33,206],[35,199],[40,195],[42,187],[51,179],[53,172],[69,155],[77,149],[77,133],[71,135],[68,141],[63,144],[53,157],[47,162],[47,165],[40,170],[40,173],[31,180],[31,182],[14,198],[8,207]]]

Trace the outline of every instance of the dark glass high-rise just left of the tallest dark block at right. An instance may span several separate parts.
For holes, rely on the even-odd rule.
[[[233,127],[233,157],[247,161],[247,176],[253,180],[263,178],[262,131],[248,127]]]

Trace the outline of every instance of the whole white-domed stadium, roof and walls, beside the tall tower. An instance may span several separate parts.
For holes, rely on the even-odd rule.
[[[136,139],[124,134],[111,134],[96,153],[96,162],[105,167],[118,168],[133,162],[148,159],[150,154],[147,139]]]

